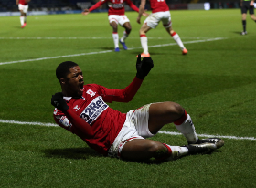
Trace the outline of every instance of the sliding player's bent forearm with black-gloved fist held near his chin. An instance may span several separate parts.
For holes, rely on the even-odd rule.
[[[91,126],[85,120],[82,120],[73,110],[69,109],[69,106],[63,99],[63,94],[61,92],[55,93],[55,95],[52,96],[51,104],[58,110],[61,110],[72,125],[79,129],[86,138],[93,137],[94,133]]]

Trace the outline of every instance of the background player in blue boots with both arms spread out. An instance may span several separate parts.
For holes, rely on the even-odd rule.
[[[137,6],[135,6],[131,0],[100,0],[98,3],[95,5],[91,6],[90,9],[84,9],[82,12],[83,15],[88,15],[92,10],[95,10],[96,8],[100,7],[104,3],[108,3],[109,6],[109,22],[110,25],[112,26],[112,38],[113,38],[113,43],[114,43],[114,51],[119,52],[119,44],[122,44],[123,49],[127,50],[128,47],[125,44],[125,39],[129,36],[132,30],[132,26],[130,24],[130,20],[128,19],[127,16],[124,15],[124,2],[129,5],[131,8],[133,8],[134,11],[139,12],[139,9]],[[148,14],[142,12],[142,15],[148,16]],[[123,37],[119,40],[118,32],[117,32],[117,27],[118,24],[120,26],[123,26],[125,30],[123,31]]]

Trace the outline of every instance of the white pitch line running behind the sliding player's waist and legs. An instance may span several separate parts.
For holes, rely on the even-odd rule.
[[[18,124],[18,125],[39,125],[39,126],[46,126],[46,127],[59,127],[59,125],[55,123],[43,123],[43,122],[26,122],[26,121],[17,121],[17,120],[1,120],[0,123],[7,123],[7,124]],[[158,131],[160,134],[169,134],[169,135],[181,135],[180,132],[175,131]],[[254,137],[238,137],[238,136],[221,136],[221,135],[212,135],[212,134],[197,134],[200,137],[218,137],[218,138],[225,138],[225,139],[232,139],[232,140],[250,140],[256,141]]]

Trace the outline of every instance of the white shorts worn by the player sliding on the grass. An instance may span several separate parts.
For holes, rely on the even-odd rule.
[[[153,137],[148,129],[148,117],[149,107],[151,104],[147,104],[140,109],[130,110],[126,114],[126,120],[123,124],[123,128],[112,143],[111,148],[108,151],[108,156],[120,158],[123,146],[128,141],[133,139],[144,139]]]

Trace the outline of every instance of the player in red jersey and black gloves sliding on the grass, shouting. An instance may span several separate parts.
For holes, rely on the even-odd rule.
[[[123,160],[176,160],[222,147],[224,141],[219,138],[199,139],[187,111],[175,102],[146,104],[127,113],[109,107],[107,102],[131,101],[153,66],[151,57],[141,60],[138,55],[133,81],[124,89],[108,89],[97,84],[84,85],[78,64],[72,61],[59,64],[56,76],[62,92],[51,99],[54,120],[95,151]],[[146,139],[168,123],[175,124],[187,139],[187,145],[173,146]]]

